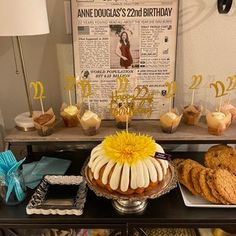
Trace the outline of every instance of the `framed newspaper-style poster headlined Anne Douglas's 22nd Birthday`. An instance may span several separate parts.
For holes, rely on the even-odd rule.
[[[126,78],[129,93],[140,85],[153,94],[152,113],[134,118],[159,118],[175,79],[177,15],[178,0],[72,0],[75,76],[91,84],[91,109],[111,119],[112,91]]]

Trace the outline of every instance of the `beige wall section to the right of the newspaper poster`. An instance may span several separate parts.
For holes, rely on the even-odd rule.
[[[196,102],[206,109],[214,109],[216,103],[209,83],[226,81],[229,75],[236,74],[236,9],[233,2],[233,9],[225,15],[218,13],[216,0],[180,0],[177,106],[190,102],[188,87],[193,74],[203,75]],[[232,97],[236,104],[236,91]]]

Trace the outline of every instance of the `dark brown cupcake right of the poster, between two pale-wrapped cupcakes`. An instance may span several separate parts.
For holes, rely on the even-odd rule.
[[[183,120],[187,125],[196,125],[202,115],[202,106],[188,105],[184,107]]]

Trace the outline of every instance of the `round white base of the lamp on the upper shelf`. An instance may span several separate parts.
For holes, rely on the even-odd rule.
[[[30,117],[29,112],[24,112],[15,117],[16,128],[21,131],[32,131],[35,130],[33,118]]]

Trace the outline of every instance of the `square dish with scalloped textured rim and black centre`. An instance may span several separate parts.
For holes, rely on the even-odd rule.
[[[46,175],[26,206],[26,213],[82,215],[86,196],[82,176]]]

